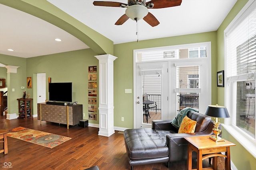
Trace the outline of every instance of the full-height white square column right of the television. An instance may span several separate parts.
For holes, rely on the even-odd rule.
[[[106,54],[95,56],[99,60],[99,117],[98,135],[109,137],[114,131],[114,60]]]

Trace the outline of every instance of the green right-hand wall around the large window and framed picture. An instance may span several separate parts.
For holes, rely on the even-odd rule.
[[[235,6],[232,8],[228,16],[222,22],[217,31],[217,44],[218,44],[218,61],[217,70],[224,70],[224,30],[228,24],[235,18],[235,16],[240,12],[248,0],[238,0]],[[212,91],[214,94],[216,91]],[[218,93],[218,104],[224,106],[224,88],[217,88]],[[224,128],[222,128],[222,136],[236,144],[235,147],[230,148],[231,160],[238,170],[252,170],[256,167],[256,159],[252,156],[232,135],[230,135]]]

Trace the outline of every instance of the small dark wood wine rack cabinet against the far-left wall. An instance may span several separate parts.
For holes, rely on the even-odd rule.
[[[17,100],[18,100],[18,107],[19,107],[19,118],[23,118],[23,119],[31,118],[33,99],[20,98]]]

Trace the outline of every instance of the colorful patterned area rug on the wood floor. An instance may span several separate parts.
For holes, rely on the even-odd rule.
[[[35,143],[37,145],[41,145],[48,148],[56,147],[57,145],[60,145],[61,143],[64,143],[69,139],[72,139],[70,137],[64,137],[52,133],[36,131],[25,127],[16,127],[10,129],[7,133],[7,136],[27,141],[30,143]]]

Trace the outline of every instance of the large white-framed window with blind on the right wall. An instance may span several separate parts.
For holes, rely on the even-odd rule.
[[[256,3],[250,4],[230,23],[224,35],[228,84],[225,102],[231,116],[226,121],[231,126],[226,130],[252,153],[256,148]]]

